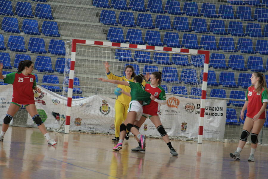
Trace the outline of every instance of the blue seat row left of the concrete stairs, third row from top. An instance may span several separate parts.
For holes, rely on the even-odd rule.
[[[23,36],[9,36],[7,48],[13,52],[27,52]],[[4,46],[4,36],[0,34],[0,50],[7,49]],[[47,53],[43,38],[31,37],[29,39],[28,51],[32,53]],[[63,40],[51,39],[49,41],[48,53],[52,55],[65,55],[65,43]]]

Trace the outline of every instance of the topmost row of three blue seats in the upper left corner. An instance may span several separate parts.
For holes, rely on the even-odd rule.
[[[37,1],[37,0],[36,0]],[[46,2],[46,0],[39,0],[40,2]],[[0,2],[0,15],[14,16],[13,7],[11,1],[2,0]],[[32,4],[30,2],[17,2],[15,7],[15,14],[19,17],[44,18],[52,20],[52,10],[49,4],[36,4],[35,15],[33,15]]]

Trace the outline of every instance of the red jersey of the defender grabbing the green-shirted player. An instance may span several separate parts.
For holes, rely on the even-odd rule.
[[[165,90],[161,86],[152,87],[150,83],[147,83],[145,85],[145,91],[151,93],[157,99],[166,100]],[[149,115],[159,115],[160,106],[161,104],[152,100],[149,105],[143,106],[143,113]]]

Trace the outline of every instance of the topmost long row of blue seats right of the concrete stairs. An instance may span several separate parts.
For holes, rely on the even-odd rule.
[[[248,1],[247,1],[248,2]],[[265,4],[264,4],[265,3]],[[260,6],[267,5],[266,2],[259,3]],[[167,0],[165,8],[162,6],[161,0],[148,0],[147,8],[145,8],[144,0],[130,0],[129,6],[127,6],[127,0],[116,1],[112,0],[111,5],[108,4],[108,0],[93,0],[92,5],[102,8],[111,8],[117,10],[133,10],[138,12],[151,13],[169,13],[173,15],[183,15],[200,17],[204,16],[207,18],[223,18],[223,19],[236,19],[253,21],[258,20],[259,22],[267,22],[267,9],[256,7],[254,11],[254,18],[251,16],[251,8],[239,6],[236,13],[232,5],[220,5],[218,9],[218,14],[216,14],[216,6],[210,3],[203,3],[201,10],[198,10],[198,4],[196,2],[185,2],[183,9],[180,9],[180,2],[175,0]],[[251,5],[251,4],[250,4]],[[266,13],[266,15],[265,15]]]

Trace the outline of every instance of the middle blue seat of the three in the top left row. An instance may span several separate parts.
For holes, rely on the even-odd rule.
[[[19,17],[34,17],[32,14],[32,4],[30,2],[17,2],[15,13]]]

